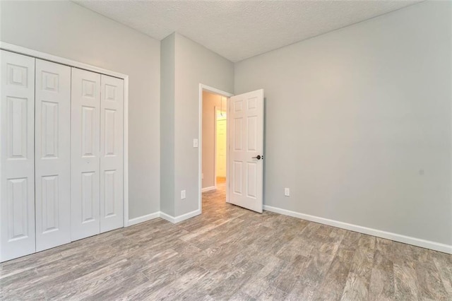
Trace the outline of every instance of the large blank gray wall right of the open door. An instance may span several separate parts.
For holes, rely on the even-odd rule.
[[[451,5],[235,64],[236,94],[265,89],[266,205],[452,244]]]

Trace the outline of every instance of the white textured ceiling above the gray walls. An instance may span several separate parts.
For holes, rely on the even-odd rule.
[[[241,61],[419,1],[75,1],[157,40],[174,31]]]

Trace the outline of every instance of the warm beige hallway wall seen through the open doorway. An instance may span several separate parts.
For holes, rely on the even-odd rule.
[[[226,110],[227,98],[213,93],[203,92],[203,188],[215,186],[215,106]]]

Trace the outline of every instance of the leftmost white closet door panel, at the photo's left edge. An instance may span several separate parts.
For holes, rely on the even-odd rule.
[[[35,252],[35,59],[0,50],[0,261]]]

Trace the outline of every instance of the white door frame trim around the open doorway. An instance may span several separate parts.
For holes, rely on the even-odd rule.
[[[199,102],[198,102],[198,212],[203,213],[203,177],[202,177],[202,166],[203,166],[203,91],[210,93],[215,93],[218,95],[225,96],[226,100],[226,112],[229,112],[229,98],[234,96],[234,94],[210,87],[209,85],[199,84]],[[226,119],[226,128],[228,129],[229,119]],[[226,182],[229,177],[229,148],[226,150]],[[216,179],[215,179],[216,182]],[[226,200],[228,199],[227,189],[226,189]]]

